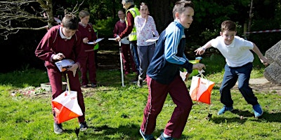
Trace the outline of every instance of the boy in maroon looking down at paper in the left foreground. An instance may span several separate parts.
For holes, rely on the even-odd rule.
[[[62,76],[67,73],[70,81],[70,89],[77,91],[78,104],[81,108],[83,116],[78,117],[80,130],[84,131],[88,128],[85,122],[85,105],[84,98],[81,92],[79,76],[76,71],[81,68],[86,61],[86,55],[81,43],[81,34],[78,29],[78,20],[75,15],[67,14],[62,20],[61,25],[57,25],[48,30],[45,36],[41,39],[35,50],[35,55],[45,61],[45,66],[48,71],[48,79],[52,87],[52,99],[63,93]],[[55,62],[61,59],[72,59],[75,63],[70,66],[64,73],[60,72]],[[55,134],[63,133],[62,124],[58,124],[53,110],[53,124]]]

